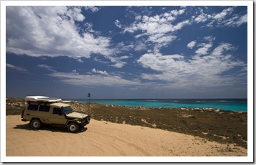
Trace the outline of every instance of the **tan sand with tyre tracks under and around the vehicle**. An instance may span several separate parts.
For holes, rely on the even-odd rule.
[[[77,134],[6,116],[6,156],[247,156],[247,149],[148,127],[91,120]]]

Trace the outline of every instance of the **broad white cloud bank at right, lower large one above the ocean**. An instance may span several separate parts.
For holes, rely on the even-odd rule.
[[[234,46],[230,43],[220,43],[209,52],[211,44],[198,43],[203,46],[195,50],[191,59],[185,55],[163,55],[161,53],[145,53],[138,59],[144,68],[150,68],[158,73],[141,74],[145,80],[163,80],[172,87],[215,87],[233,85],[244,81],[235,75],[226,75],[228,70],[238,69],[238,73],[246,74],[247,65],[232,58]],[[206,83],[207,82],[207,83]]]

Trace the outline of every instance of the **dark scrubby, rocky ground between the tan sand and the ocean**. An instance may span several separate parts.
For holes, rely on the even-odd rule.
[[[172,132],[191,134],[223,144],[236,144],[247,149],[247,112],[214,108],[149,108],[68,102],[77,112],[93,119],[140,125]],[[6,98],[6,115],[20,115],[24,99]]]

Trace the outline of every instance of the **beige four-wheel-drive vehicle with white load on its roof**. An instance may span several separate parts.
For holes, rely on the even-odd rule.
[[[69,132],[77,132],[79,127],[89,124],[90,115],[74,112],[72,107],[61,102],[61,99],[28,96],[25,98],[26,107],[21,113],[21,120],[34,129],[39,129],[42,124],[56,124],[68,127]]]

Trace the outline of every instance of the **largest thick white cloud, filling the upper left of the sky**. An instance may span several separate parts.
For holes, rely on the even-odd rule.
[[[76,26],[75,21],[86,18],[81,10],[78,6],[7,6],[6,51],[34,57],[65,55],[80,62],[92,53],[115,58],[112,55],[116,49],[110,48],[111,38],[93,31],[91,23],[84,24],[85,30]]]

